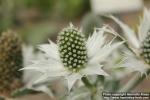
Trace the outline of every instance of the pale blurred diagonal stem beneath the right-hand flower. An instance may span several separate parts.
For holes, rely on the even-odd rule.
[[[150,74],[150,69],[147,70],[147,75]],[[134,76],[123,88],[121,88],[120,92],[129,92],[136,88],[144,79],[146,78],[146,75],[140,76],[139,74]]]

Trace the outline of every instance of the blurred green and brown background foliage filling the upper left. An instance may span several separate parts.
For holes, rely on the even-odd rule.
[[[88,11],[89,0],[0,0],[0,32],[13,29],[35,45]]]

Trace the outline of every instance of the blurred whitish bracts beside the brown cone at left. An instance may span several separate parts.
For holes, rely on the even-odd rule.
[[[23,66],[28,66],[33,60],[40,60],[43,58],[43,55],[40,52],[34,52],[33,46],[23,45]],[[47,84],[34,84],[34,81],[41,75],[41,73],[33,72],[31,70],[24,70],[23,82],[25,88],[42,91],[47,93],[49,96],[53,97],[51,90],[48,88]]]

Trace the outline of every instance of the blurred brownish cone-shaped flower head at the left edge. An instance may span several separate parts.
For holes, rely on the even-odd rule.
[[[0,34],[0,95],[9,96],[21,86],[23,64],[20,38],[12,31]]]

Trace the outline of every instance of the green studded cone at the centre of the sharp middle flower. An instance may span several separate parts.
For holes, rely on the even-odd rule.
[[[78,72],[87,63],[87,48],[82,33],[70,26],[60,32],[58,37],[61,61],[67,69]]]

